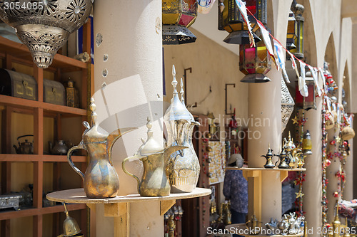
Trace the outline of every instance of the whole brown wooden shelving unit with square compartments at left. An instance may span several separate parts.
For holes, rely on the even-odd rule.
[[[90,36],[90,21],[84,25],[84,38]],[[89,37],[90,38],[90,37]],[[90,41],[85,40],[83,51],[90,52]],[[28,48],[21,43],[10,41],[0,36],[0,60],[2,61],[2,68],[11,70],[14,65],[21,65],[21,67],[29,68],[32,75],[37,82],[37,100],[26,100],[22,98],[14,98],[11,96],[0,95],[0,110],[1,110],[1,194],[10,193],[11,191],[11,177],[14,177],[14,167],[11,169],[11,164],[16,162],[26,162],[25,164],[32,163],[33,170],[33,206],[29,209],[21,209],[19,211],[12,211],[11,209],[0,209],[0,236],[7,237],[11,233],[11,219],[23,218],[32,216],[32,236],[44,236],[44,218],[46,214],[52,214],[52,236],[57,236],[62,233],[63,215],[60,213],[64,211],[63,205],[43,207],[43,191],[44,183],[50,182],[54,191],[61,190],[62,178],[66,175],[62,174],[61,164],[67,162],[66,156],[51,155],[44,152],[44,134],[48,131],[44,130],[44,120],[46,117],[54,118],[53,127],[53,140],[61,139],[62,135],[71,130],[71,127],[66,129],[62,127],[62,120],[77,117],[76,120],[81,126],[81,121],[86,120],[87,111],[86,107],[91,95],[91,80],[93,65],[91,63],[83,63],[74,58],[69,58],[60,54],[56,54],[54,61],[49,68],[37,68],[31,58],[31,53]],[[44,102],[43,98],[43,79],[44,73],[53,73],[54,80],[61,81],[64,79],[64,73],[77,73],[80,75],[76,80],[80,81],[79,94],[80,94],[80,107],[66,107],[62,105],[54,105]],[[11,144],[11,139],[14,139],[11,126],[14,124],[14,114],[31,115],[33,117],[33,124],[31,122],[28,126],[33,127],[34,132],[34,154],[14,154],[14,148]],[[26,121],[24,121],[26,122]],[[83,128],[77,128],[83,132]],[[76,135],[77,137],[77,135]],[[78,137],[81,134],[78,133]],[[85,152],[72,157],[74,162],[79,162],[79,167],[84,171],[86,169],[86,156]],[[51,171],[46,170],[46,164],[53,164]],[[11,174],[12,172],[12,174]],[[53,180],[44,180],[44,172],[51,172]],[[76,175],[76,174],[73,174]],[[67,177],[64,177],[67,178]],[[74,184],[75,185],[75,184]],[[79,184],[81,185],[81,184]],[[80,187],[80,186],[77,186]],[[69,204],[67,206],[69,211],[80,210],[78,214],[81,218],[79,225],[81,226],[82,233],[86,236],[87,233],[87,207],[86,204]],[[61,220],[62,218],[62,220]],[[19,226],[21,228],[21,226]]]

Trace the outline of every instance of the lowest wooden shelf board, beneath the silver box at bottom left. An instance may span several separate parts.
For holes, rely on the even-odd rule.
[[[75,210],[82,210],[86,209],[85,204],[69,204],[66,205],[69,211]],[[0,211],[0,220],[7,220],[11,218],[20,218],[26,216],[37,216],[37,215],[44,215],[44,214],[51,214],[64,211],[63,205],[56,205],[56,206],[48,206],[48,207],[41,207],[41,208],[29,208],[23,209],[19,211]]]

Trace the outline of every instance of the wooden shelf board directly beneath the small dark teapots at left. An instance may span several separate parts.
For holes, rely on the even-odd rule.
[[[85,156],[72,156],[73,162],[86,162]],[[51,154],[0,154],[0,162],[68,162],[67,156]]]

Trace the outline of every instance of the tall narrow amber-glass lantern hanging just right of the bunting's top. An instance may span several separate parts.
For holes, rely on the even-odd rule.
[[[296,49],[292,49],[290,52],[293,53],[297,58],[303,58],[303,11],[305,8],[301,4],[296,4],[296,1],[293,1],[292,6],[293,13],[295,14],[295,19],[297,22],[297,31],[296,31]]]

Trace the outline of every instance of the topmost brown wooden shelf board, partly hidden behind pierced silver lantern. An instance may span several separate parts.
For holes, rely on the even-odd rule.
[[[16,58],[21,61],[25,60],[32,64],[32,56],[29,49],[22,43],[17,43],[11,41],[7,38],[0,36],[0,52],[3,55],[9,54],[16,61]],[[56,54],[54,56],[53,63],[50,68],[62,68],[66,69],[65,71],[75,71],[87,68],[87,64],[76,60],[74,58],[69,58],[61,54]]]

